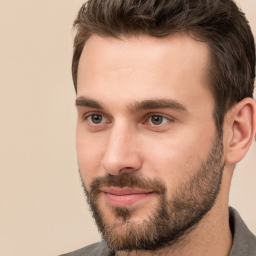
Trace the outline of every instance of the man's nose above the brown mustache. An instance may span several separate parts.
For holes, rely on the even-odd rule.
[[[101,162],[103,168],[112,175],[138,170],[142,165],[138,143],[130,129],[112,128]]]

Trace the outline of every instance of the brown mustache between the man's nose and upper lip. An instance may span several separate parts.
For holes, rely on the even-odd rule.
[[[83,187],[87,190],[86,194],[95,196],[98,194],[102,187],[127,187],[127,188],[139,188],[154,191],[158,194],[165,194],[166,186],[158,178],[148,178],[141,174],[134,174],[130,172],[123,172],[119,175],[105,174],[104,176],[95,177],[89,185],[89,189],[85,187],[82,180]]]

